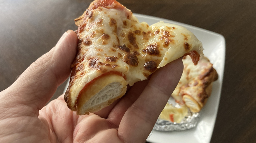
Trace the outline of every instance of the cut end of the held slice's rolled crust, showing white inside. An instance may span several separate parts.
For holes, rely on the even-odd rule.
[[[77,114],[84,115],[110,105],[122,97],[127,88],[125,79],[117,74],[106,74],[97,78],[77,98]]]

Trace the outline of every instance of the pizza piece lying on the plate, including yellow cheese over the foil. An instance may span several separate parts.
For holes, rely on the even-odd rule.
[[[182,61],[184,69],[181,79],[159,119],[175,123],[186,122],[191,114],[201,111],[211,95],[213,82],[218,79],[218,73],[207,57],[200,58],[197,66],[194,66],[189,56],[184,56]]]

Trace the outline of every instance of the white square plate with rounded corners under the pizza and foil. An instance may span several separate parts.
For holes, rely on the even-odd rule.
[[[212,94],[201,111],[198,125],[185,131],[155,131],[149,135],[147,141],[152,143],[209,143],[211,140],[215,119],[217,116],[225,64],[225,39],[222,35],[179,22],[161,19],[157,17],[134,14],[139,22],[149,25],[163,21],[166,23],[181,25],[195,34],[203,43],[204,55],[209,58],[213,67],[218,72],[219,78],[213,83]]]

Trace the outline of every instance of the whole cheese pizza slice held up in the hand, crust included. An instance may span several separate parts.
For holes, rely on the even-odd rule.
[[[190,55],[196,65],[202,43],[179,25],[139,23],[115,0],[96,0],[78,26],[77,54],[64,95],[78,115],[96,112],[122,97],[127,85],[145,80],[167,63]]]

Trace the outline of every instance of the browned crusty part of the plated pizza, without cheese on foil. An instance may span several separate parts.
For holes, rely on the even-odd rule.
[[[184,56],[183,73],[172,93],[177,103],[185,104],[190,111],[197,113],[211,95],[212,83],[218,79],[218,73],[209,59],[203,56],[194,66],[191,57]]]

